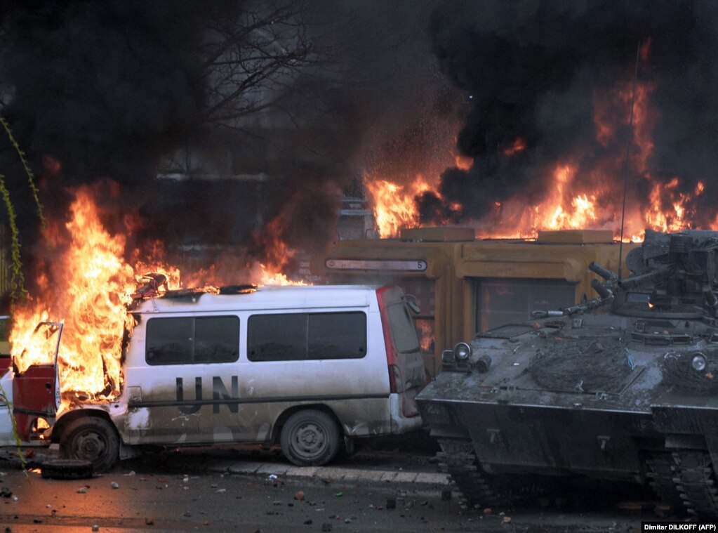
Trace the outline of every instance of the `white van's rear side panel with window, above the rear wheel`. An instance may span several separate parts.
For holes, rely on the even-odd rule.
[[[350,436],[389,432],[388,379],[376,310],[256,312],[247,321],[243,420],[259,438],[286,409],[328,407]]]

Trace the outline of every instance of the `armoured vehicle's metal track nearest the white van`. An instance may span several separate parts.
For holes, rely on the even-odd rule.
[[[469,506],[493,506],[498,495],[477,464],[471,440],[439,439],[442,451],[437,453],[439,470],[449,473]],[[502,502],[508,503],[508,502]]]

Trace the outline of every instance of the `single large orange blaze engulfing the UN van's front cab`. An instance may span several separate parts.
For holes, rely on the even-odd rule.
[[[65,254],[52,262],[58,281],[47,284],[44,279],[47,303],[31,302],[14,312],[11,351],[21,372],[34,363],[52,362],[47,356],[56,338],[39,338],[32,332],[48,318],[64,322],[58,353],[61,392],[81,391],[88,399],[106,401],[122,384],[123,331],[134,325],[125,308],[134,289],[134,272],[121,259],[125,239],[103,228],[88,190],[78,190],[70,210],[73,217],[65,224],[66,233],[57,226],[48,230],[53,246],[60,246],[64,234],[68,239]]]

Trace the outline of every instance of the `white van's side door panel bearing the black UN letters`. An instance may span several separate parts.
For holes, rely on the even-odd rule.
[[[236,315],[151,317],[135,328],[121,431],[131,444],[232,442],[238,412]]]

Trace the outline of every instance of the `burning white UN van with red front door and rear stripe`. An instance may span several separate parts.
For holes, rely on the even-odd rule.
[[[398,287],[369,286],[143,297],[121,394],[55,415],[56,365],[32,366],[11,376],[17,428],[32,440],[47,420],[60,454],[96,471],[143,445],[236,442],[279,444],[294,464],[322,465],[356,438],[420,427],[414,397],[427,374],[410,306]]]

